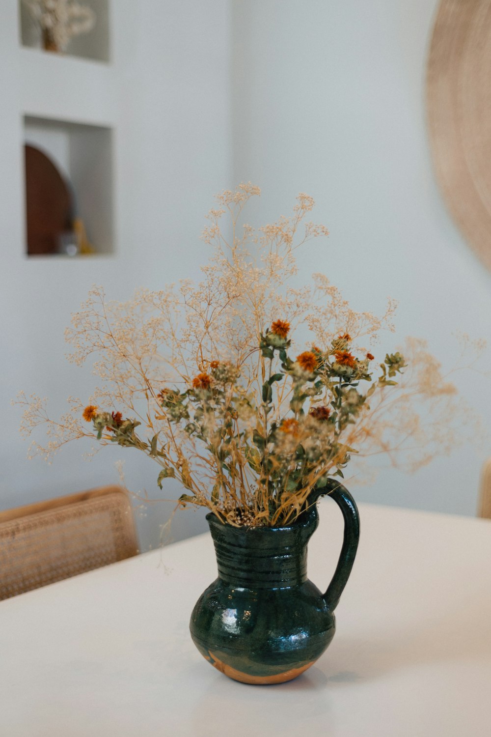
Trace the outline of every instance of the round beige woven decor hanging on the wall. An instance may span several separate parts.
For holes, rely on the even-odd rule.
[[[464,236],[491,269],[491,0],[441,0],[427,96],[437,179]]]

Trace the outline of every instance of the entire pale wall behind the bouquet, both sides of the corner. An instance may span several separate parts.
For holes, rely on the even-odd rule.
[[[453,329],[489,337],[491,276],[453,226],[430,166],[424,72],[436,5],[113,0],[106,66],[21,49],[16,1],[4,0],[1,508],[113,483],[117,458],[126,461],[130,488],[157,496],[155,471],[136,453],[106,448],[87,462],[74,444],[52,466],[26,461],[10,397],[34,391],[60,413],[69,394],[88,396],[88,370],[64,359],[70,313],[94,282],[125,299],[140,285],[197,276],[211,195],[239,181],[263,189],[254,211],[259,223],[288,212],[297,192],[316,198],[317,220],[331,237],[321,263],[305,251],[300,276],[324,270],[358,309],[381,311],[386,295],[398,298],[396,343],[420,335],[451,363]],[[58,78],[60,88],[48,90]],[[20,116],[52,110],[115,129],[114,256],[24,256]],[[467,377],[461,388],[484,419],[490,416],[489,380]],[[474,514],[486,453],[467,447],[412,477],[383,472],[357,490],[358,499]],[[172,492],[179,495],[177,483]],[[158,544],[168,513],[169,506],[155,506],[140,520],[143,548]],[[175,538],[202,528],[200,513],[174,518]]]

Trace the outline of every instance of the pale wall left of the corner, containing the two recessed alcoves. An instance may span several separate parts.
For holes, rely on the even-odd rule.
[[[66,447],[51,466],[27,461],[10,398],[20,389],[49,397],[88,397],[94,377],[64,358],[63,330],[91,285],[124,300],[197,276],[207,256],[199,240],[212,195],[230,181],[230,6],[227,0],[116,0],[111,4],[109,66],[46,55],[19,45],[16,0],[0,22],[0,508],[117,483],[125,462],[130,489],[158,497],[156,467],[137,453],[90,444]],[[114,129],[116,254],[95,259],[27,259],[21,115],[110,125]],[[157,469],[158,470],[158,469]],[[175,484],[174,498],[180,494]],[[158,545],[172,505],[139,521],[141,546]],[[174,539],[206,527],[202,514],[177,514]]]

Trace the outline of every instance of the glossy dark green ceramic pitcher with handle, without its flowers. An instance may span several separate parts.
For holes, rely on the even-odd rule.
[[[345,538],[333,580],[322,594],[307,578],[307,544],[319,523],[314,502],[326,492],[342,509]],[[315,490],[311,503],[294,524],[280,528],[236,528],[208,514],[218,578],[194,607],[191,637],[213,666],[235,680],[291,680],[333,638],[333,611],[358,546],[358,510],[336,481]]]

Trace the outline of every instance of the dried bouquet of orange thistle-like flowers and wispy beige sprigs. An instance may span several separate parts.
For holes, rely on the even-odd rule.
[[[310,287],[289,286],[296,249],[328,231],[306,221],[314,200],[305,194],[291,217],[240,227],[259,194],[241,184],[217,197],[201,283],[140,290],[124,303],[91,291],[66,339],[74,363],[97,358],[103,385],[85,409],[71,399],[57,422],[41,399],[21,397],[24,433],[38,425],[48,433],[34,455],[49,459],[95,434],[148,455],[160,488],[179,479],[180,506],[208,507],[231,525],[278,526],[308,506],[314,487],[342,476],[353,453],[417,467],[452,447],[456,390],[425,343],[410,340],[407,359],[395,352],[378,362],[364,346],[393,329],[393,301],[378,318],[352,310],[321,274]],[[312,340],[295,349],[300,326]]]

